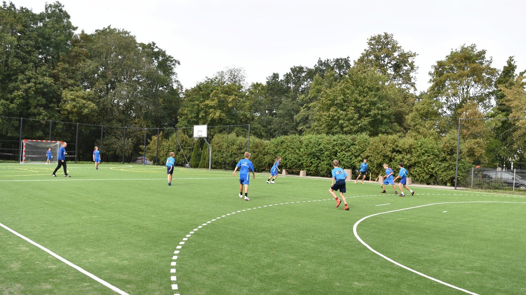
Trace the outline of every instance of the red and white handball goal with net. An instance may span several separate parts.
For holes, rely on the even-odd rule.
[[[51,148],[51,160],[56,161],[60,145],[62,141],[24,139],[21,145],[20,163],[45,164],[49,148]]]

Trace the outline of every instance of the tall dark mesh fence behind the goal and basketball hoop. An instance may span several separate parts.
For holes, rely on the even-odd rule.
[[[208,126],[207,133],[208,142],[216,138],[213,168],[231,169],[250,149],[249,124]],[[102,162],[164,165],[169,152],[175,152],[178,166],[194,163],[192,167],[208,168],[208,145],[201,139],[194,140],[193,127],[120,127],[0,117],[0,161],[20,161],[24,139],[65,141],[66,160],[75,163],[93,161],[93,151],[98,146]],[[205,151],[206,161],[201,161]]]

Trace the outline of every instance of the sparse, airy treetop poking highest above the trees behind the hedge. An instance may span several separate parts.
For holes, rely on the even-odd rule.
[[[418,69],[414,65],[416,53],[403,50],[393,35],[388,33],[371,36],[367,40],[367,45],[368,47],[355,61],[358,69],[375,69],[389,77],[387,82],[416,90],[414,85],[414,74]]]

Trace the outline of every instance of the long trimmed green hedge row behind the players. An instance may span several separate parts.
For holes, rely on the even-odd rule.
[[[175,134],[162,141],[159,155],[178,151],[182,156],[175,139]],[[179,135],[181,136],[181,135]],[[191,144],[191,139],[184,141]],[[152,140],[147,151],[155,152],[155,140]],[[229,134],[228,152],[227,135],[214,135],[212,146],[212,168],[233,170],[236,163],[247,150],[247,138]],[[208,145],[202,150],[199,145],[194,149],[193,156],[200,159],[199,167],[208,167]],[[454,183],[457,138],[450,133],[442,138],[413,138],[401,135],[378,135],[370,137],[366,134],[355,135],[289,135],[280,136],[270,141],[264,141],[252,136],[250,138],[251,161],[256,172],[269,171],[277,156],[281,156],[280,168],[291,170],[306,170],[310,176],[329,176],[332,170],[332,160],[339,160],[340,167],[356,170],[363,157],[368,159],[369,172],[372,178],[383,173],[383,163],[387,163],[395,173],[398,163],[403,162],[409,171],[413,182],[434,185],[451,185]],[[166,151],[165,151],[166,150]],[[180,159],[179,159],[180,161]],[[190,162],[194,162],[190,160]],[[464,160],[461,152],[459,171],[466,171],[470,165]],[[461,173],[462,174],[462,173]],[[459,175],[461,175],[459,174]]]

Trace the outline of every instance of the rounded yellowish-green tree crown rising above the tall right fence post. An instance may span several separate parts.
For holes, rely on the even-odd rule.
[[[432,67],[429,94],[442,102],[441,111],[450,116],[453,124],[459,118],[459,110],[471,100],[478,103],[483,112],[491,108],[498,75],[491,62],[491,57],[486,58],[486,50],[478,50],[472,44],[452,50]]]

